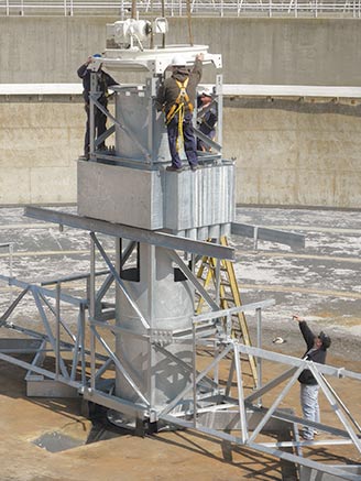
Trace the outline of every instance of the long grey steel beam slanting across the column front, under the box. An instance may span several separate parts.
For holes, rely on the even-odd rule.
[[[83,229],[90,232],[101,232],[107,236],[129,239],[161,248],[234,261],[233,248],[214,244],[210,242],[196,241],[162,231],[141,229],[122,223],[112,223],[107,222],[106,220],[81,217],[75,214],[67,214],[59,210],[43,209],[41,207],[32,206],[25,207],[24,215],[34,219],[59,223],[62,226],[73,227],[75,229]]]

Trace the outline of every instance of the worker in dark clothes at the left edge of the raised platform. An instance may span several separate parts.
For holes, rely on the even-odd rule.
[[[119,85],[117,80],[114,80],[109,74],[102,70],[101,64],[98,64],[98,69],[91,65],[94,63],[94,58],[101,58],[100,54],[95,54],[92,57],[88,57],[87,62],[77,70],[78,76],[83,79],[83,97],[85,101],[85,111],[87,113],[87,123],[84,139],[84,158],[89,158],[89,142],[90,142],[90,108],[89,108],[89,92],[91,88],[91,73],[96,72],[97,80],[98,80],[98,90],[100,91],[100,97],[98,98],[98,102],[101,103],[105,108],[108,107],[108,87],[112,85]],[[100,136],[107,130],[107,116],[101,112],[98,108],[95,109],[95,129],[96,136]],[[105,142],[99,145],[100,150],[106,149]]]

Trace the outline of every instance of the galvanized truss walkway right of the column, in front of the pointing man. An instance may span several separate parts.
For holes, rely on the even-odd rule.
[[[265,304],[264,306],[266,306]],[[240,308],[233,308],[239,310],[249,310],[250,308],[261,309],[262,303],[255,304],[253,306],[242,306]],[[228,309],[229,310],[229,309]],[[225,314],[225,313],[222,313]],[[205,433],[207,435],[211,435],[215,437],[218,437],[220,439],[228,440],[230,442],[234,442],[238,446],[244,446],[250,447],[252,449],[255,449],[260,452],[269,453],[272,456],[275,456],[280,459],[284,459],[291,462],[294,462],[296,464],[306,466],[313,469],[316,469],[321,472],[326,472],[329,474],[338,475],[342,479],[349,479],[349,480],[357,480],[360,479],[359,474],[352,474],[349,471],[344,471],[341,468],[335,468],[331,466],[327,466],[320,462],[315,462],[308,458],[303,458],[302,456],[297,455],[291,455],[288,452],[284,452],[281,450],[281,448],[294,448],[298,450],[303,446],[332,446],[332,445],[353,445],[354,448],[361,452],[361,429],[359,424],[355,422],[355,419],[352,417],[351,413],[347,407],[343,405],[340,397],[335,393],[333,389],[331,387],[330,383],[326,381],[325,374],[335,376],[335,378],[350,378],[358,381],[361,381],[361,374],[355,373],[352,371],[346,371],[343,369],[333,368],[330,365],[322,365],[322,364],[314,364],[310,361],[306,361],[304,359],[293,358],[284,354],[277,354],[275,352],[265,351],[261,348],[252,348],[248,347],[245,345],[239,343],[238,341],[234,341],[230,337],[230,330],[226,330],[223,332],[225,337],[223,339],[221,336],[218,337],[218,345],[217,341],[215,341],[215,337],[210,337],[207,339],[207,337],[201,338],[201,335],[196,335],[196,326],[199,327],[199,324],[206,323],[209,324],[209,320],[214,320],[217,324],[217,316],[220,316],[221,311],[218,313],[210,313],[209,315],[205,314],[201,316],[195,316],[194,317],[194,341],[195,345],[199,343],[200,346],[206,345],[209,349],[211,346],[217,346],[218,348],[221,347],[222,351],[218,352],[218,349],[215,349],[215,359],[209,363],[209,365],[204,369],[204,371],[198,374],[197,376],[194,376],[194,384],[192,387],[188,387],[183,393],[180,393],[176,400],[174,400],[169,406],[167,406],[162,413],[160,413],[160,418],[163,419],[166,423],[171,423],[177,426],[196,429],[201,433]],[[229,315],[229,314],[228,314]],[[215,324],[215,326],[216,326]],[[225,325],[223,325],[225,326]],[[227,324],[226,324],[227,326]],[[220,326],[218,326],[218,329]],[[217,353],[218,352],[218,353]],[[217,363],[221,361],[229,353],[233,353],[232,358],[232,367],[236,367],[236,378],[237,378],[237,396],[230,397],[229,395],[229,385],[231,376],[233,375],[233,370],[230,372],[230,379],[228,380],[228,387],[225,392],[223,396],[220,396],[218,398],[218,403],[214,404],[212,406],[207,405],[207,407],[203,409],[198,409],[196,406],[196,397],[195,398],[195,405],[193,409],[189,409],[187,412],[179,413],[178,411],[174,414],[172,414],[172,408],[176,406],[176,403],[182,401],[182,397],[184,394],[186,394],[186,391],[189,391],[190,389],[194,390],[194,393],[197,390],[198,382],[201,381],[203,375],[209,372]],[[285,365],[291,365],[291,369],[287,369],[284,373],[282,373],[280,376],[275,378],[271,382],[269,382],[265,385],[260,385],[259,389],[251,395],[247,396],[243,391],[243,381],[242,381],[242,370],[241,370],[241,361],[240,361],[240,354],[252,354],[256,357],[259,360],[265,359],[274,362],[281,362]],[[297,378],[299,373],[304,369],[310,369],[314,373],[315,378],[318,380],[318,383],[320,385],[321,391],[324,392],[325,396],[329,401],[332,409],[336,412],[336,415],[339,417],[339,420],[341,422],[342,426],[344,427],[344,430],[335,428],[332,426],[327,426],[321,423],[313,423],[308,422],[304,418],[299,418],[294,415],[285,414],[282,412],[282,409],[278,409],[278,406],[281,402],[286,396],[287,392],[291,390],[291,387],[295,384],[297,384]],[[194,365],[194,371],[196,372],[196,368]],[[265,393],[270,393],[274,387],[280,386],[284,382],[286,383],[286,386],[283,387],[281,393],[276,396],[273,404],[265,408],[261,406],[253,405],[253,402],[256,400],[260,400],[262,395]],[[204,402],[207,402],[207,398],[203,398]],[[199,403],[199,400],[197,400]],[[201,414],[205,412],[229,412],[233,414],[233,429],[241,430],[241,436],[230,435],[229,433],[221,433],[218,429],[215,429],[209,426],[201,426],[197,422],[197,414],[201,411]],[[262,412],[263,417],[260,420],[260,423],[253,427],[252,431],[248,429],[248,423],[247,423],[247,412]],[[276,419],[287,422],[289,423],[291,427],[295,429],[296,424],[303,425],[303,426],[313,426],[317,429],[324,430],[326,433],[329,433],[333,436],[341,437],[342,439],[322,439],[318,441],[300,441],[298,438],[298,430],[295,429],[295,440],[293,441],[284,441],[284,442],[255,442],[256,436],[262,431],[262,429],[265,427],[266,423],[271,417],[274,417]],[[190,418],[190,420],[189,420]],[[229,420],[229,419],[228,419]],[[237,424],[237,426],[236,426]]]

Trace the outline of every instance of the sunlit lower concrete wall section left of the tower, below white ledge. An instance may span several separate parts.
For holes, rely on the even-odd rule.
[[[0,205],[76,201],[83,102],[0,101]]]

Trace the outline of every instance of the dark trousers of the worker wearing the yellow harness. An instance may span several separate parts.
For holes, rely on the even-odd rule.
[[[178,136],[178,116],[174,116],[171,122],[167,124],[168,144],[172,156],[172,165],[175,168],[182,167],[179,153],[177,152],[176,142]],[[186,113],[183,121],[183,139],[184,151],[187,156],[187,161],[190,166],[198,164],[196,139],[192,123],[192,113]]]

